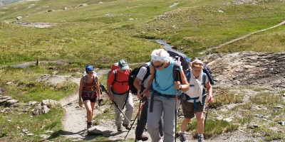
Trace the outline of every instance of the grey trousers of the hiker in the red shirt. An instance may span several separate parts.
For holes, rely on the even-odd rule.
[[[125,102],[125,99],[127,99],[128,95],[128,100]],[[123,111],[123,106],[125,104],[125,116],[131,121],[132,116],[133,116],[133,95],[131,93],[125,93],[125,94],[115,94],[113,93],[114,97],[114,102],[118,104],[118,107],[122,109]],[[124,112],[124,111],[123,111]],[[122,116],[120,110],[115,107],[115,124],[117,127],[122,127]],[[127,119],[124,119],[123,124],[129,124]]]

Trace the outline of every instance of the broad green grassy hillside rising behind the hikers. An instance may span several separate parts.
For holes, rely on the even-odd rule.
[[[89,6],[77,7],[83,3]],[[69,1],[31,1],[21,5],[11,4],[7,6],[9,10],[1,9],[6,11],[0,15],[2,21],[14,21],[16,16],[24,16],[23,21],[56,23],[56,26],[38,29],[1,23],[0,47],[4,52],[1,53],[0,64],[35,60],[37,56],[41,60],[66,59],[81,67],[89,62],[106,67],[120,58],[130,62],[145,62],[149,60],[151,51],[160,46],[137,37],[163,38],[192,56],[284,21],[284,1],[255,5],[234,5],[224,1],[180,1],[177,7],[170,9],[168,6],[173,3],[175,1],[122,0],[104,1],[103,4],[99,4],[99,1],[73,1],[72,4]],[[31,4],[36,5],[27,8]],[[63,11],[64,6],[68,10]],[[48,9],[55,11],[48,13]],[[225,13],[219,13],[219,9]],[[154,20],[162,14],[167,18]],[[279,29],[284,31],[283,27]],[[276,40],[270,40],[271,44],[266,42],[264,45],[264,40],[259,40],[259,37],[264,37],[262,34],[270,35],[266,37],[268,39],[275,39],[274,35],[279,32],[266,31],[254,35],[257,36],[255,42],[243,40],[245,45],[242,48],[232,44],[218,51],[242,51],[247,47],[252,47],[247,50],[263,52],[283,51],[282,35]]]

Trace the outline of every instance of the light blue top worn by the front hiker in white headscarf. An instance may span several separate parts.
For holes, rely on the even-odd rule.
[[[174,64],[175,64],[175,60],[171,58],[170,65],[168,65],[168,67],[166,67],[163,70],[155,71],[156,81],[153,80],[152,88],[155,89],[157,92],[160,92],[161,94],[175,95],[176,90],[175,90],[174,78],[172,75]],[[182,66],[180,66],[179,70],[180,71],[182,70]],[[179,91],[178,95],[180,95],[181,93],[182,92]]]

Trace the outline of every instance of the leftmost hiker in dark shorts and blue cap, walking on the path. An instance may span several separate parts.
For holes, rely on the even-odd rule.
[[[87,111],[87,129],[92,126],[93,110],[96,100],[100,100],[99,79],[94,72],[92,65],[86,65],[86,71],[81,78],[79,85],[79,101],[78,104],[82,107],[82,101]],[[81,100],[82,99],[82,100]]]

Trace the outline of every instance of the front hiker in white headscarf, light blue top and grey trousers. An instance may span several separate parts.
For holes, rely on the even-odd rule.
[[[163,49],[152,51],[150,72],[150,80],[143,91],[146,97],[151,94],[147,131],[153,142],[175,141],[175,119],[179,107],[177,104],[180,104],[180,94],[189,89],[189,84],[182,66],[175,65],[175,60]],[[175,79],[177,75],[180,75],[182,83]],[[163,139],[159,133],[160,117],[163,119]]]

